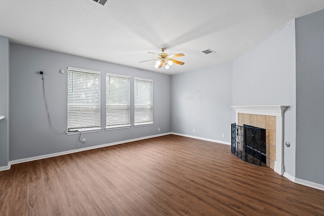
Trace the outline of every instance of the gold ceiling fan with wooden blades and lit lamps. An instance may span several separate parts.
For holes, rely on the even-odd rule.
[[[160,54],[155,54],[155,53],[152,53],[152,52],[148,52],[148,53],[151,53],[151,54],[155,55],[157,58],[156,59],[146,60],[146,61],[141,61],[141,62],[147,62],[147,61],[156,60],[155,65],[154,65],[155,68],[160,68],[163,65],[165,65],[166,69],[169,69],[170,66],[173,63],[179,64],[179,65],[184,64],[184,62],[180,62],[178,60],[172,59],[172,58],[184,56],[183,53],[173,54],[173,55],[169,56],[167,53],[164,52],[165,50],[166,50],[166,48],[161,48],[162,53],[160,53]],[[139,62],[139,63],[141,63],[141,62]]]

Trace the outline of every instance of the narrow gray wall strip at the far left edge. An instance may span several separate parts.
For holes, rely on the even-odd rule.
[[[9,39],[0,36],[0,167],[9,162]]]

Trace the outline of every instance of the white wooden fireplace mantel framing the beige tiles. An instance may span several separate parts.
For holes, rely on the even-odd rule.
[[[238,113],[276,116],[276,152],[274,171],[284,175],[284,112],[289,107],[286,105],[275,106],[232,106],[235,109],[236,124]]]

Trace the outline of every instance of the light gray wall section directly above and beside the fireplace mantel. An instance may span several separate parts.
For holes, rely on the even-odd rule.
[[[285,172],[295,176],[295,21],[233,62],[233,105],[289,105],[285,112]]]

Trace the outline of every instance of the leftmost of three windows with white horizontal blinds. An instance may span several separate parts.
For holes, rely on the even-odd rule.
[[[67,68],[67,128],[100,129],[100,72]]]

